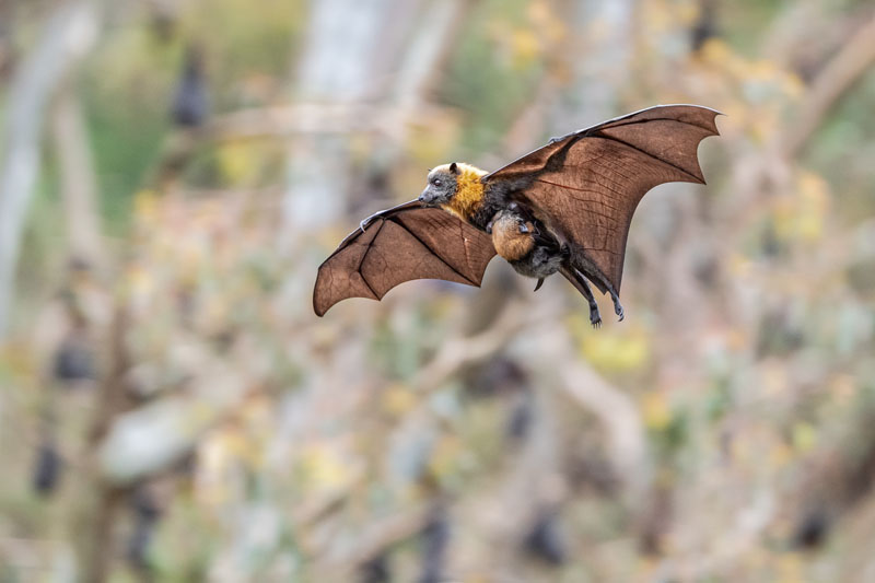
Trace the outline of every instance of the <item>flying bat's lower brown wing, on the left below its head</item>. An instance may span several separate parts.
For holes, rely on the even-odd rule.
[[[324,315],[347,298],[382,299],[411,279],[480,285],[495,249],[486,233],[412,200],[377,212],[319,266],[313,310]]]

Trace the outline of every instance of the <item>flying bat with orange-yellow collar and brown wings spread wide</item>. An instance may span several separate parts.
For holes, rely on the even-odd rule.
[[[704,184],[699,142],[719,135],[719,112],[658,105],[553,138],[495,172],[452,163],[429,173],[418,199],[362,221],[319,267],[313,308],[382,299],[412,279],[480,285],[497,254],[538,280],[561,273],[602,324],[590,282],[619,292],[635,207],[656,185]]]

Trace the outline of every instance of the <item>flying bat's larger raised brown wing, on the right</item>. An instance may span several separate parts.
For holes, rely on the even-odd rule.
[[[555,139],[483,180],[508,180],[512,196],[619,292],[635,207],[656,185],[704,184],[697,150],[719,133],[718,115],[696,105],[658,105]]]

